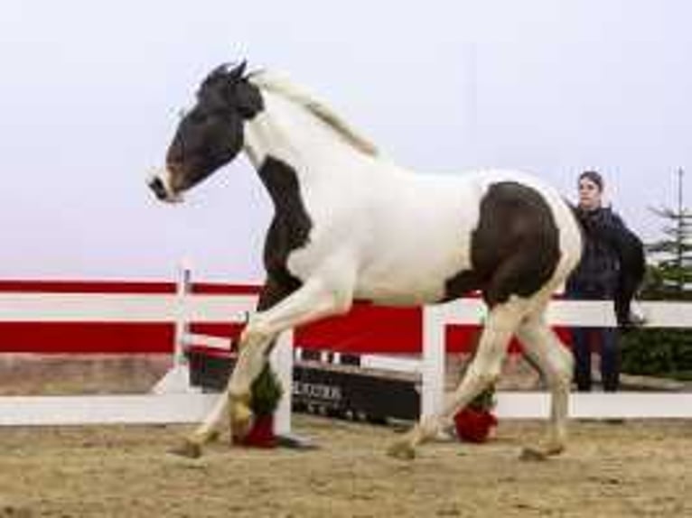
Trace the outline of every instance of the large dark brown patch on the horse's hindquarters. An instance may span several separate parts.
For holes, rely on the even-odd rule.
[[[529,297],[552,277],[559,259],[555,218],[538,191],[514,181],[492,184],[472,232],[472,269],[447,280],[444,300],[473,290],[491,307],[511,295]]]

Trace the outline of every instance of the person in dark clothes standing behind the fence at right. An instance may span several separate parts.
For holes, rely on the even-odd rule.
[[[579,204],[576,216],[584,226],[581,262],[566,282],[566,296],[573,300],[613,301],[620,274],[620,255],[606,236],[629,232],[622,218],[603,205],[603,177],[597,171],[579,175]],[[591,391],[592,344],[601,350],[601,379],[604,392],[620,385],[620,346],[617,328],[571,328],[575,354],[575,382],[580,392]]]

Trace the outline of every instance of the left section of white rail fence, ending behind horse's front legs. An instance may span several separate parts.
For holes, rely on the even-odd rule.
[[[158,424],[200,421],[216,399],[189,390],[182,344],[187,322],[238,322],[254,310],[254,295],[0,293],[0,322],[170,322],[176,325],[173,368],[152,394],[0,397],[0,426],[71,424]],[[293,371],[293,333],[271,356],[284,386]],[[208,337],[210,338],[210,337]],[[227,341],[228,344],[228,341]],[[277,433],[291,429],[290,391],[276,412]]]

